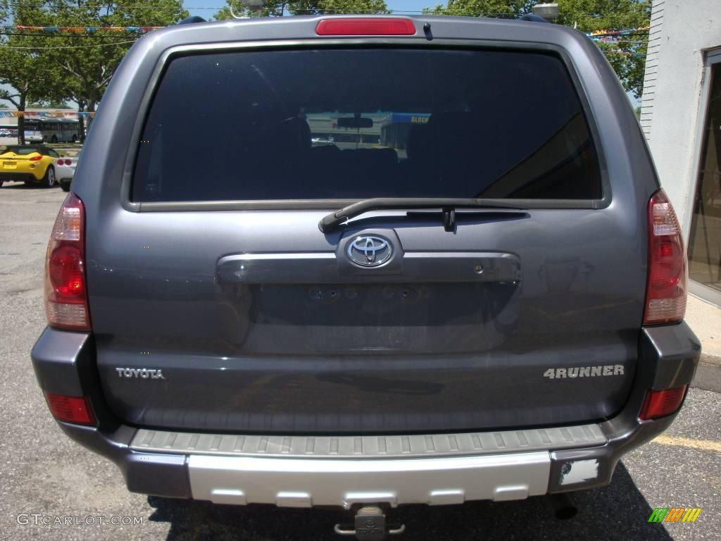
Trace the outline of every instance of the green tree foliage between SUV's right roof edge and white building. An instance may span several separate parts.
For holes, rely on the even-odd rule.
[[[434,15],[516,18],[528,14],[536,0],[448,0],[424,12]],[[582,32],[643,29],[650,25],[650,0],[558,0],[556,23]],[[638,99],[643,92],[648,34],[638,30],[614,42],[596,42],[606,54],[627,92]]]

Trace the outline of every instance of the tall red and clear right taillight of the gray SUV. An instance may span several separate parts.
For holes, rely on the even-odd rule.
[[[688,266],[676,212],[665,192],[658,190],[648,203],[648,283],[644,325],[684,319]]]

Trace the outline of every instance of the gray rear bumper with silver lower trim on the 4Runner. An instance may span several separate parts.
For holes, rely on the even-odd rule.
[[[607,485],[626,452],[674,415],[639,421],[645,393],[689,384],[700,344],[686,323],[642,330],[624,409],[585,426],[420,436],[247,436],[152,431],[108,410],[92,336],[46,329],[32,351],[40,387],[90,397],[98,427],[58,423],[115,462],[134,492],[216,503],[344,506],[526,498]]]

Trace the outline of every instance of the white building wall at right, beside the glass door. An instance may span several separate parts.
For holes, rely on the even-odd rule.
[[[641,126],[685,231],[696,187],[704,54],[721,47],[721,0],[654,0]]]

